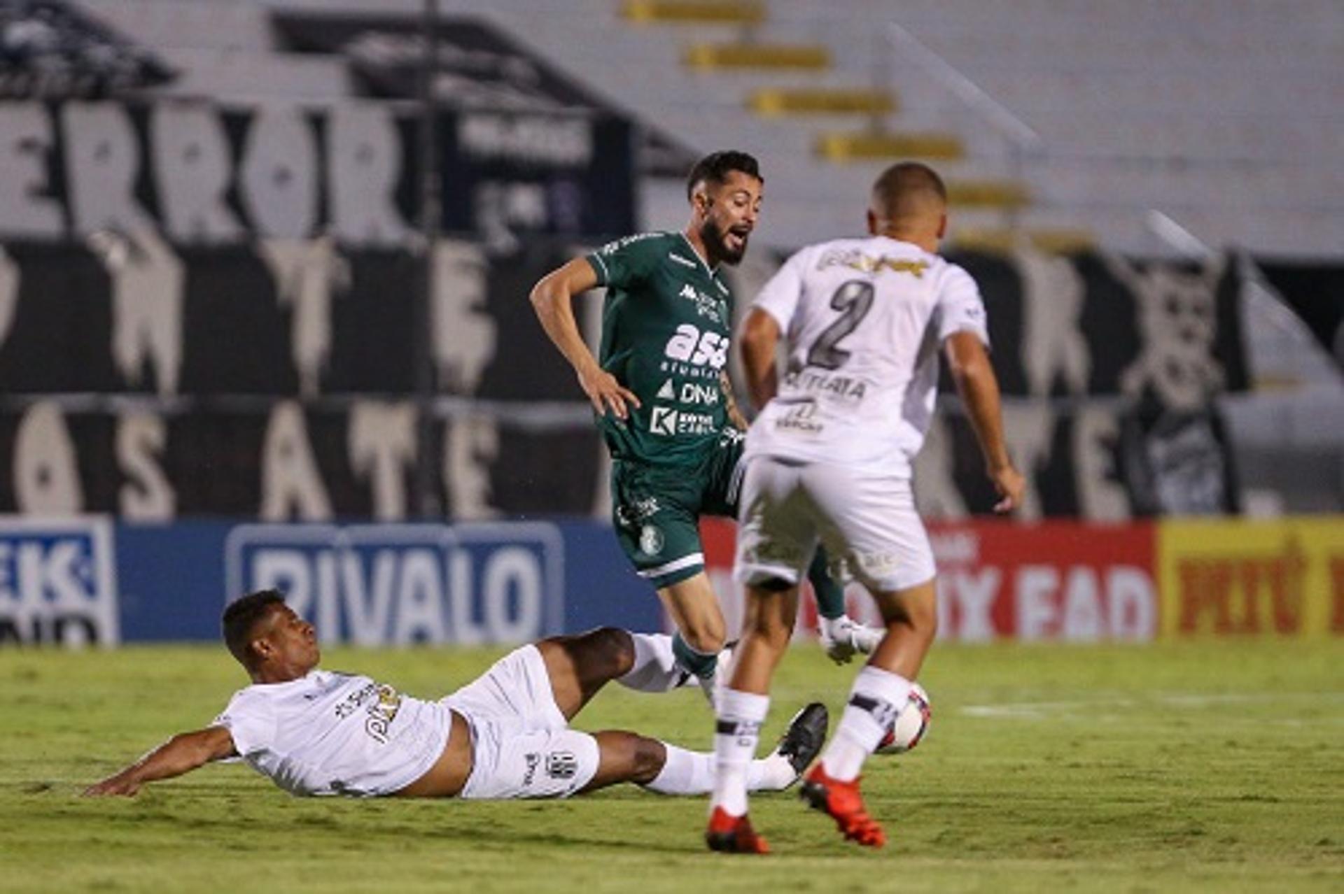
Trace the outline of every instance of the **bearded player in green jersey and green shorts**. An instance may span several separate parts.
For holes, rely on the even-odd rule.
[[[700,515],[734,517],[746,420],[726,365],[737,264],[761,212],[765,185],[743,152],[702,158],[687,179],[691,220],[680,232],[618,239],[547,274],[532,306],[574,366],[612,454],[612,515],[621,548],[676,623],[676,664],[712,686],[724,646],[723,612],[704,573]],[[574,319],[574,295],[606,286],[597,358]],[[880,631],[844,612],[844,591],[818,554],[823,644],[837,662],[871,652]]]

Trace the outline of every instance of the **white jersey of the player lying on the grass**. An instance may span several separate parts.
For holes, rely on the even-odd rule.
[[[390,795],[444,753],[452,713],[368,677],[313,670],[234,694],[215,725],[259,773],[294,795]]]

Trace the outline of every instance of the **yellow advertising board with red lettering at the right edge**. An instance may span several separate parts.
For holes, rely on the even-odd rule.
[[[1344,515],[1164,521],[1159,635],[1344,636]]]

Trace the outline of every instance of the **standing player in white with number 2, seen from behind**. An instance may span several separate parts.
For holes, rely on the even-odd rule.
[[[1001,499],[1021,501],[1008,456],[999,384],[985,348],[974,281],[935,252],[948,192],[921,164],[874,184],[867,239],[793,255],[765,286],[739,340],[747,384],[763,407],[747,434],[735,576],[747,609],[732,679],[719,701],[716,777],[706,842],[766,852],[747,819],[747,783],[770,678],[788,647],[798,570],[824,544],[841,579],[878,603],[886,635],[859,673],[804,797],[845,838],[880,847],[882,827],[859,795],[859,771],[906,703],[934,638],[934,561],[910,489],[911,462],[934,411],[938,354],[952,370]],[[788,366],[775,370],[785,338]],[[769,403],[766,403],[769,401]]]

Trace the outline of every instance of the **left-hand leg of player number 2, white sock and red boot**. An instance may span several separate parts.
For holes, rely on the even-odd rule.
[[[734,659],[732,681],[719,697],[714,736],[715,779],[704,840],[711,850],[767,854],[747,816],[747,768],[761,724],[770,711],[770,678],[793,635],[798,588],[747,587],[747,615]]]

